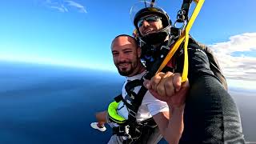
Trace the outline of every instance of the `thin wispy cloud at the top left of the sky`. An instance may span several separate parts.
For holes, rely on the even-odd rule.
[[[45,0],[44,5],[50,9],[58,10],[59,12],[66,13],[70,10],[78,10],[80,13],[87,13],[85,6],[82,4],[70,0]]]

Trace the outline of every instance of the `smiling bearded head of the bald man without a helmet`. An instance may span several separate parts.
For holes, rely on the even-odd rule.
[[[122,76],[133,76],[138,73],[141,50],[133,38],[120,36],[111,46],[114,65]]]

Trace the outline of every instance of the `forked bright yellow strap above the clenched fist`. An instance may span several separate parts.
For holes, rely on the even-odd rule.
[[[184,31],[182,31],[181,37],[178,38],[178,41],[174,43],[174,45],[170,48],[170,52],[166,55],[166,58],[163,60],[161,66],[159,66],[158,71],[156,74],[158,74],[158,72],[160,72],[165,66],[166,64],[170,61],[170,59],[174,56],[174,53],[176,52],[176,50],[178,50],[178,47],[182,44],[183,40],[184,41],[184,65],[183,65],[183,70],[182,70],[182,82],[185,82],[187,79],[187,74],[188,74],[188,54],[187,54],[187,46],[188,46],[188,42],[189,42],[189,34],[190,34],[190,29],[194,23],[195,18],[197,18],[199,11],[202,8],[202,4],[203,2],[205,2],[205,0],[194,0],[194,2],[196,3],[196,7],[194,8],[194,12],[190,17],[190,21],[188,22],[188,24],[186,25],[186,28]]]

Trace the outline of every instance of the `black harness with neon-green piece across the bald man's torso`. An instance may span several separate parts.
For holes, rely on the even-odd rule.
[[[123,136],[123,143],[146,143],[150,138],[150,135],[153,134],[154,130],[157,129],[157,124],[154,122],[153,118],[146,119],[142,122],[137,122],[136,120],[138,108],[141,106],[143,96],[147,91],[146,88],[142,86],[142,82],[142,79],[127,82],[125,89],[132,101],[127,102],[124,98],[122,98],[122,94],[120,94],[114,98],[114,102],[110,103],[112,106],[109,106],[108,109],[110,122],[118,123],[118,127],[113,127],[112,129],[113,134],[117,134],[117,136]],[[138,91],[138,94],[132,91],[132,89],[137,86],[142,86]],[[115,114],[114,112],[110,112],[110,107],[117,109],[117,104],[121,101],[126,105],[126,108],[129,112],[127,120],[124,118],[118,118],[120,116],[118,116],[116,110]]]

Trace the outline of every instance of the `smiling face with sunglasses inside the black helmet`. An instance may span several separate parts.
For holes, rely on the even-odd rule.
[[[159,19],[158,21],[147,21],[146,18],[154,17],[156,15],[147,15],[146,17],[141,18],[138,22],[141,22],[141,24],[138,23],[139,27],[138,30],[142,34],[142,36],[145,36],[146,34],[152,34],[156,33],[159,30],[162,30],[162,21]],[[143,20],[145,19],[145,20]]]

